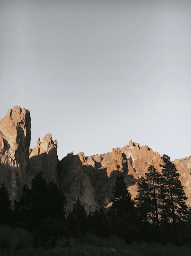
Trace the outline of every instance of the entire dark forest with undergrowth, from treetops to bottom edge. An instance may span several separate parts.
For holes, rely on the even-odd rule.
[[[28,255],[44,255],[51,250],[55,254],[48,255],[63,255],[58,251],[84,255],[80,249],[75,251],[83,246],[87,255],[191,255],[191,208],[186,205],[176,166],[167,155],[162,160],[162,172],[151,165],[140,178],[134,200],[121,173],[113,187],[111,206],[90,213],[79,199],[68,211],[66,198],[57,185],[45,181],[42,172],[32,179],[30,187],[23,186],[20,199],[14,203],[2,183],[1,255],[26,255],[27,250]],[[107,248],[105,252],[103,248]],[[135,248],[145,254],[136,254]]]

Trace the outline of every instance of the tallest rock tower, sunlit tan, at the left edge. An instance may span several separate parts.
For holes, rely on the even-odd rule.
[[[11,200],[20,197],[28,182],[31,117],[28,109],[9,109],[0,120],[0,183],[5,182]]]

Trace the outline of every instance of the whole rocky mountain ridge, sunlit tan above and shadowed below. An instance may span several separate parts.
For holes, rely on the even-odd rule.
[[[161,155],[148,146],[140,146],[130,140],[123,148],[113,148],[101,155],[85,156],[73,152],[61,161],[57,157],[57,140],[47,133],[30,149],[31,118],[29,110],[19,106],[10,109],[0,121],[0,183],[8,187],[11,200],[18,199],[21,188],[43,172],[49,182],[53,180],[62,190],[71,209],[79,198],[87,211],[100,206],[108,207],[113,185],[120,173],[132,198],[136,196],[137,182],[150,165],[160,171]],[[174,161],[180,173],[187,203],[191,205],[191,157]]]

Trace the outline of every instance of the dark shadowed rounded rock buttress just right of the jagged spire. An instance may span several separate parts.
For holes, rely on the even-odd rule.
[[[58,164],[58,185],[66,196],[68,208],[71,209],[76,199],[80,199],[86,210],[95,210],[95,193],[86,170],[87,160],[84,153],[64,157]],[[91,161],[90,161],[91,163]],[[87,165],[89,169],[93,168]]]

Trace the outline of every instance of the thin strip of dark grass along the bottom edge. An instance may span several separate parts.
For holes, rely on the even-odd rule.
[[[126,245],[125,248],[99,247],[81,245],[72,248],[54,248],[46,249],[21,249],[18,251],[2,251],[1,256],[84,256],[84,255],[100,255],[100,256],[189,256],[191,248],[183,246],[163,246],[161,244],[132,244]]]

